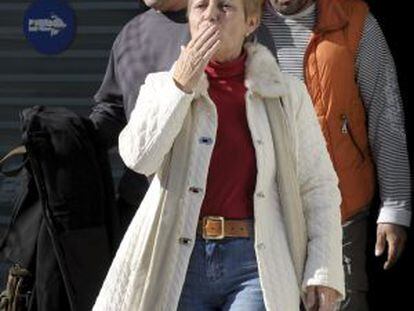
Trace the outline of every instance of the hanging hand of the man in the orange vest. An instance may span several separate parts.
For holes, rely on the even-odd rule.
[[[384,264],[384,270],[391,268],[397,262],[404,250],[406,240],[407,232],[403,226],[388,223],[378,224],[375,256],[381,256],[388,243],[388,255],[387,261]]]

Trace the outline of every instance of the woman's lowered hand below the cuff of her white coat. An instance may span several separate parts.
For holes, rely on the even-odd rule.
[[[306,288],[305,307],[307,311],[339,310],[340,294],[326,286],[308,286]]]

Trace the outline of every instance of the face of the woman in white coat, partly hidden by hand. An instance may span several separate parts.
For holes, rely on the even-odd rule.
[[[190,0],[189,24],[191,36],[216,25],[220,47],[213,60],[225,62],[237,58],[244,40],[258,25],[258,17],[245,16],[243,0]]]

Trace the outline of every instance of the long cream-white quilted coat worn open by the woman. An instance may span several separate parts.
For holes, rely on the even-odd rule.
[[[260,282],[267,310],[296,311],[309,285],[329,286],[344,295],[338,180],[305,86],[282,74],[265,47],[249,44],[246,50],[246,111],[257,161],[254,217]],[[148,75],[119,137],[126,165],[155,176],[94,310],[161,311],[178,305],[196,238],[217,111],[205,75],[196,91],[186,94],[176,87],[171,72]],[[290,131],[302,223],[295,216],[284,217],[283,209],[291,207],[282,206],[276,182],[275,144],[264,102],[280,105],[280,99]],[[293,255],[295,248],[303,251]]]

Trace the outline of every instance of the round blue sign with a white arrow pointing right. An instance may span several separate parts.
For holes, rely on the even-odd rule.
[[[38,0],[26,11],[23,32],[35,49],[44,54],[66,50],[75,37],[75,14],[59,0]]]

